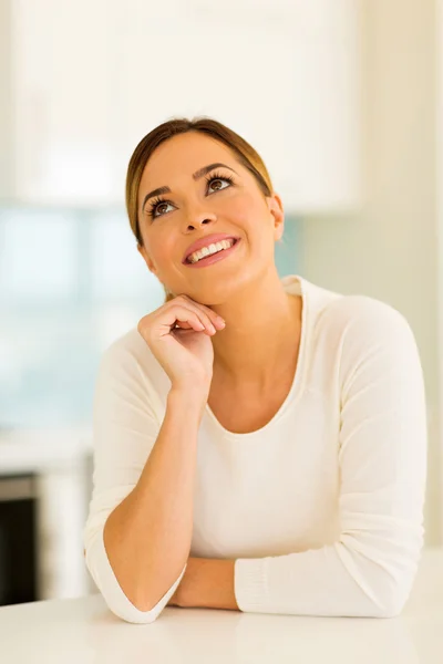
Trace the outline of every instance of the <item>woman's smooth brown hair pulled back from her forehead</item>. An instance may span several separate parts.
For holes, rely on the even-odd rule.
[[[200,132],[227,145],[237,160],[247,168],[256,178],[264,196],[271,196],[272,183],[269,173],[260,157],[249,143],[233,129],[210,117],[197,117],[195,120],[173,118],[158,125],[146,134],[138,143],[132,154],[126,174],[126,210],[130,218],[132,231],[140,246],[143,245],[138,224],[138,187],[143,170],[153,152],[168,138],[186,132]],[[174,299],[174,294],[165,288],[165,302]]]

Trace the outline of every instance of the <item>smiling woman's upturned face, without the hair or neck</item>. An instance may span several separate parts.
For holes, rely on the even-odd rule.
[[[224,166],[195,175],[212,164]],[[146,199],[158,187],[171,191]],[[275,269],[275,241],[284,231],[281,200],[276,194],[265,198],[253,174],[210,136],[188,132],[162,143],[144,168],[137,206],[138,250],[175,294],[218,304],[233,289],[259,283]],[[218,232],[240,238],[229,256],[200,268],[183,262],[195,240]]]

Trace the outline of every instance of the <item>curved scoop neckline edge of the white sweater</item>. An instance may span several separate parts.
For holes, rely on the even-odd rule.
[[[227,428],[225,428],[218,422],[218,419],[214,415],[209,404],[206,402],[205,411],[206,411],[207,415],[209,416],[209,418],[212,419],[214,425],[219,429],[219,432],[222,433],[222,435],[225,438],[246,440],[248,438],[253,438],[253,437],[257,437],[257,436],[261,436],[262,434],[266,434],[267,430],[269,428],[271,428],[278,419],[280,419],[280,417],[284,415],[285,411],[287,409],[289,403],[297,402],[302,393],[305,364],[306,364],[305,356],[306,356],[306,346],[308,343],[307,342],[307,338],[308,338],[307,321],[308,321],[309,301],[308,301],[308,292],[307,292],[308,291],[307,281],[299,274],[287,274],[286,277],[284,277],[281,279],[281,282],[284,283],[284,286],[290,284],[289,288],[285,288],[286,292],[289,292],[290,294],[293,294],[293,295],[301,295],[300,347],[299,347],[299,352],[298,352],[297,366],[296,366],[296,371],[295,371],[295,374],[292,377],[292,383],[291,383],[290,390],[289,390],[284,403],[277,411],[277,413],[274,415],[274,417],[267,424],[265,424],[265,426],[256,429],[255,432],[247,432],[245,434],[229,432]],[[291,289],[293,288],[295,282],[296,282],[296,284],[298,282],[298,288],[296,286],[297,290],[295,290],[295,292],[291,292]]]

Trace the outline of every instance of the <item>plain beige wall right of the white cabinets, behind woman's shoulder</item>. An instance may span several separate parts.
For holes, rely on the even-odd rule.
[[[352,217],[303,221],[300,271],[326,288],[384,300],[411,323],[426,382],[425,527],[426,543],[435,544],[443,540],[435,0],[367,0],[363,6],[364,201]]]

